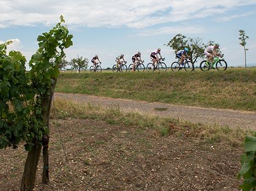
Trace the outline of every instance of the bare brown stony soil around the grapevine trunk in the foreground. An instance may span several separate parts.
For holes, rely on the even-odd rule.
[[[102,121],[51,121],[50,183],[35,190],[239,190],[242,148]],[[18,190],[26,152],[0,150],[0,190]]]

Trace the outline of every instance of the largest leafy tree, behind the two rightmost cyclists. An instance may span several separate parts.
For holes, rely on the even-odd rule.
[[[185,35],[177,34],[166,45],[171,47],[175,53],[187,47],[189,49],[188,55],[194,64],[198,58],[204,56],[204,44],[200,37],[187,38]]]

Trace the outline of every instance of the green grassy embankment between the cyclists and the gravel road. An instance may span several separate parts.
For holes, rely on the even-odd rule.
[[[256,69],[186,73],[62,73],[56,92],[256,110]]]

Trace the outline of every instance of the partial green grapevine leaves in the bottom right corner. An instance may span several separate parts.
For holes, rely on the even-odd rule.
[[[246,153],[242,156],[242,168],[238,178],[243,177],[244,181],[240,188],[243,191],[256,190],[256,136],[246,137]]]

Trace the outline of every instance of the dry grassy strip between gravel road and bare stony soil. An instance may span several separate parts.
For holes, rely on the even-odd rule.
[[[62,99],[55,99],[52,117],[55,118],[89,118],[110,124],[135,127],[138,131],[148,128],[160,135],[174,135],[181,139],[198,139],[204,143],[227,142],[231,146],[241,146],[246,135],[254,132],[245,129],[231,129],[227,126],[206,126],[178,121],[172,118],[143,116],[138,113],[124,113],[120,109],[104,109],[90,105],[81,105]]]

